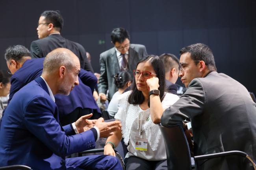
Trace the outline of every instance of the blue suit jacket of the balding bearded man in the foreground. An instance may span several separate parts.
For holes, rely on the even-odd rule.
[[[75,135],[59,124],[58,108],[41,77],[11,99],[0,130],[0,166],[27,165],[33,170],[65,170],[65,156],[95,147],[93,132]]]

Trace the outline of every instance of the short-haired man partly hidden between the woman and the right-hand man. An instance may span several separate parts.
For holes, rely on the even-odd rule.
[[[177,86],[175,85],[178,79],[179,60],[173,54],[164,53],[159,56],[165,67],[165,84],[167,91],[177,95]]]

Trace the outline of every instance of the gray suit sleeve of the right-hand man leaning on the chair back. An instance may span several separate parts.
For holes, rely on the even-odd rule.
[[[177,126],[181,121],[201,114],[205,102],[204,87],[199,79],[194,79],[186,93],[163,112],[161,124],[165,127]]]

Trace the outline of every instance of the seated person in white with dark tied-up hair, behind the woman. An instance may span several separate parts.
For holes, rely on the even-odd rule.
[[[112,117],[114,117],[118,111],[118,103],[120,101],[121,94],[132,84],[132,76],[128,71],[117,73],[113,78],[115,79],[115,85],[117,86],[118,91],[114,93],[108,104],[108,113]]]

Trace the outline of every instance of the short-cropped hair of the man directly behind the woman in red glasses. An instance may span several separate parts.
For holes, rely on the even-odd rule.
[[[169,54],[169,53],[163,53],[159,57],[163,61],[163,65],[165,66],[165,72],[173,68],[175,68],[178,71],[180,61],[175,55]]]

